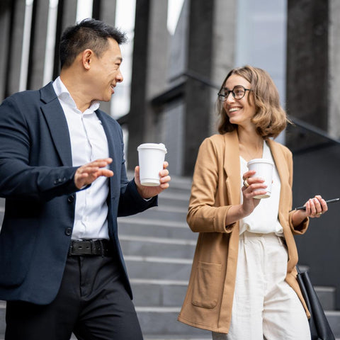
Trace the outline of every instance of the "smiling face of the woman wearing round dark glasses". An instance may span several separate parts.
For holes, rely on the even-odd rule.
[[[246,81],[246,79],[238,76],[237,74],[232,74],[232,76],[230,76],[225,82],[224,87],[231,91],[237,85],[242,85],[244,89],[251,89],[249,81]],[[249,101],[248,96],[250,96]],[[232,93],[229,93],[226,101],[223,102],[223,107],[229,117],[230,123],[244,127],[247,125],[253,125],[253,123],[251,123],[251,118],[254,117],[256,108],[251,91],[246,91],[244,97],[241,99],[235,99],[234,96],[232,96]]]

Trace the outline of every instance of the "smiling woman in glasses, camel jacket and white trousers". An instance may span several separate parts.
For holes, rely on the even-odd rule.
[[[293,234],[327,203],[315,196],[293,210],[291,152],[277,137],[289,122],[263,69],[232,69],[218,94],[220,135],[198,152],[188,225],[199,232],[179,321],[212,331],[212,339],[310,340],[309,312],[296,280]],[[251,159],[273,161],[270,198]]]

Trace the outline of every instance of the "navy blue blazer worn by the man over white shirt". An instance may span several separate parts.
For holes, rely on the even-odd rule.
[[[108,139],[108,232],[132,298],[118,241],[117,217],[157,205],[128,181],[120,125],[96,111]],[[74,223],[74,172],[67,120],[52,83],[23,91],[0,106],[0,196],[6,198],[0,233],[0,300],[45,305],[60,288]]]

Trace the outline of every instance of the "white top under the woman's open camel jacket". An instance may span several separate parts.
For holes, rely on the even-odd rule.
[[[269,149],[266,142],[263,141],[263,159],[269,159],[274,163],[273,166],[273,183],[271,186],[271,197],[262,198],[259,205],[256,206],[253,212],[249,216],[244,217],[239,221],[239,234],[242,234],[246,230],[248,232],[256,232],[261,234],[268,234],[274,232],[278,235],[283,234],[283,228],[278,221],[278,204],[280,201],[280,188],[281,182],[278,176],[278,170],[276,169],[271,149]],[[241,167],[241,188],[243,186],[242,175],[248,171],[246,161],[239,157]],[[256,176],[256,174],[255,174]],[[256,199],[256,198],[255,198]],[[243,196],[241,191],[241,204],[243,203]]]

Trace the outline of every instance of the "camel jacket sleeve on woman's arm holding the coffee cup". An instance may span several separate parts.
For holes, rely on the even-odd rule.
[[[231,205],[218,206],[215,201],[222,169],[220,149],[212,139],[205,139],[198,150],[187,215],[188,225],[193,232],[232,231],[232,226],[225,225]]]

